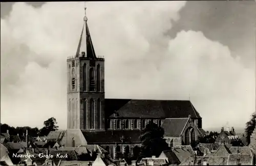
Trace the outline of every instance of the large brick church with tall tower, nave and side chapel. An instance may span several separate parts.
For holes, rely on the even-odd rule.
[[[202,118],[189,100],[105,98],[104,58],[95,53],[86,16],[83,21],[76,54],[67,59],[68,129],[50,132],[49,139],[61,137],[66,147],[100,145],[115,158],[118,151],[140,146],[139,135],[150,121],[164,128],[170,146],[189,145],[204,135]]]

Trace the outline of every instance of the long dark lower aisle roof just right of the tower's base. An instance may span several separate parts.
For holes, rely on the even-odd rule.
[[[102,130],[102,131],[90,131],[81,130],[88,144],[99,144],[99,143],[140,143],[140,130]]]

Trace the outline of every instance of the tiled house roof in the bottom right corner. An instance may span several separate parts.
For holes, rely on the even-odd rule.
[[[229,154],[227,165],[252,165],[253,157],[249,154]]]

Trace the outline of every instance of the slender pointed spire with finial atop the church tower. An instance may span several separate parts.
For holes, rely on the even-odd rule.
[[[86,9],[87,8],[85,7],[85,4],[86,3],[84,2],[83,26],[82,26],[82,32],[81,32],[80,40],[79,40],[77,51],[76,51],[76,57],[79,57],[81,43],[82,43],[82,34],[83,34],[84,24],[86,24],[86,49],[87,49],[87,57],[91,58],[91,59],[96,59],[96,54],[95,54],[95,50],[94,50],[94,47],[93,47],[92,38],[91,38],[89,27],[88,27],[88,24],[87,24],[87,20],[88,20],[87,16],[86,16]]]

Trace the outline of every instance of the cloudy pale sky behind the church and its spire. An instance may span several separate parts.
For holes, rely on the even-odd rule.
[[[1,4],[1,123],[67,126],[67,64],[84,3]],[[189,100],[204,129],[255,112],[255,1],[87,2],[105,97]],[[82,45],[81,51],[84,45]]]

